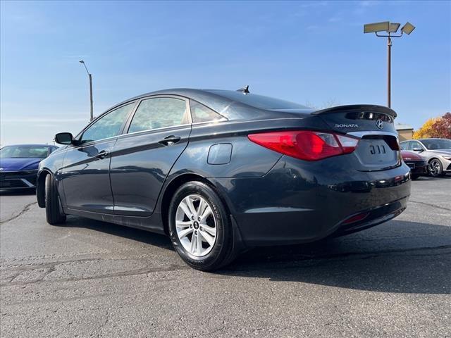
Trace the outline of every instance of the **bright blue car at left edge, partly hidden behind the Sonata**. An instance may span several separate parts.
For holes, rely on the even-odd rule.
[[[0,149],[0,189],[34,188],[39,162],[57,146],[17,144]]]

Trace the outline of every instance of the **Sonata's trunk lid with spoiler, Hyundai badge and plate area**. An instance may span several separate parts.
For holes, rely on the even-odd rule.
[[[355,105],[328,108],[313,113],[330,130],[359,139],[354,151],[357,170],[375,171],[393,168],[401,163],[395,111],[384,106]]]

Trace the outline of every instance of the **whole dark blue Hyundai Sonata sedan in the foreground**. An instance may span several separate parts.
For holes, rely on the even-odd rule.
[[[383,106],[314,111],[247,89],[171,89],[113,106],[39,165],[47,221],[167,234],[199,270],[252,246],[314,242],[399,215],[410,194]]]

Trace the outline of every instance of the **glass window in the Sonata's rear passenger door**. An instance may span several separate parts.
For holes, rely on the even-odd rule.
[[[142,132],[189,123],[186,102],[172,97],[156,97],[141,101],[128,132]]]

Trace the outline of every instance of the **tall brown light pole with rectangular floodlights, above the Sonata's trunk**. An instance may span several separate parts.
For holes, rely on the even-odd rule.
[[[402,37],[404,33],[410,35],[415,29],[412,23],[406,23],[401,28],[401,34],[395,35],[400,28],[400,23],[390,23],[390,21],[384,21],[383,23],[367,23],[364,25],[364,33],[375,33],[376,37],[387,38],[387,106],[392,105],[392,37]],[[386,35],[379,35],[379,32],[388,33]]]

